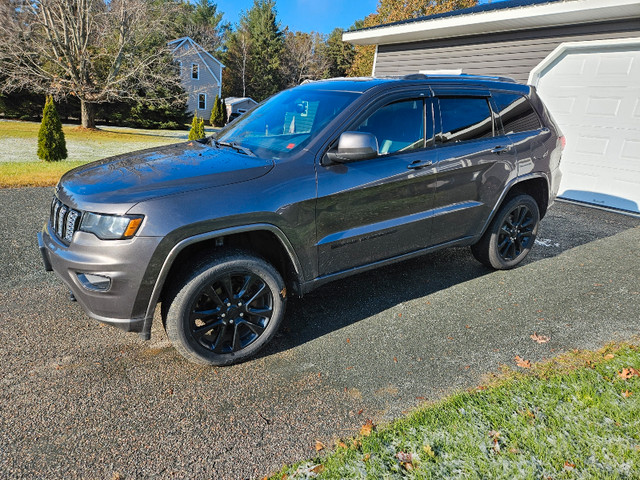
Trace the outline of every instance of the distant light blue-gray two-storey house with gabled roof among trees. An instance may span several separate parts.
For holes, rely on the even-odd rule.
[[[224,65],[189,37],[168,45],[180,67],[182,87],[189,95],[188,110],[208,120],[216,95],[222,95]]]

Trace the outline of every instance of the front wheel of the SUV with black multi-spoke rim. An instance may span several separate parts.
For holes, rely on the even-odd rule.
[[[177,281],[165,328],[175,349],[204,365],[247,360],[275,335],[286,308],[278,271],[247,252],[227,251]]]

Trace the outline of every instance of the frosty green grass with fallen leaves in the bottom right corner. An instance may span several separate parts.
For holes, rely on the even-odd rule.
[[[271,478],[640,478],[640,350],[506,372]]]

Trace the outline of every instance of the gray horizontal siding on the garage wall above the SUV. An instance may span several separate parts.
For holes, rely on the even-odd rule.
[[[508,76],[526,83],[529,72],[561,43],[639,34],[640,21],[632,19],[380,45],[375,75],[461,68],[464,73]]]

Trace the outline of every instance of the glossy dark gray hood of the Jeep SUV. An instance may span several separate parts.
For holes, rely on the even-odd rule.
[[[272,168],[272,160],[191,141],[75,168],[60,180],[58,195],[63,202],[67,200],[82,209],[99,210],[112,204],[120,211],[125,204],[131,206],[159,196],[246,182]]]

